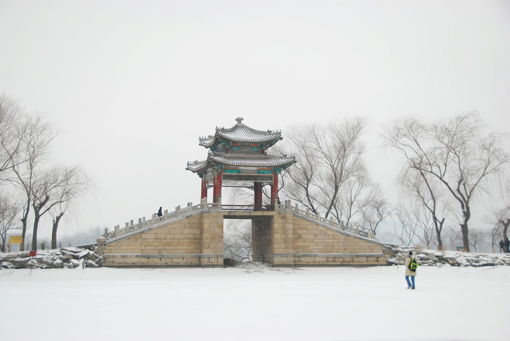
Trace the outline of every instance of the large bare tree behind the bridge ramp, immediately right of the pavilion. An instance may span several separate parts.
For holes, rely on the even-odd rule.
[[[342,122],[293,126],[278,152],[295,153],[298,163],[285,170],[288,180],[283,194],[325,218],[341,218],[341,188],[363,167],[365,144],[363,118]]]

